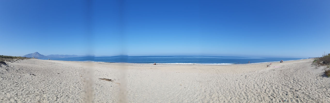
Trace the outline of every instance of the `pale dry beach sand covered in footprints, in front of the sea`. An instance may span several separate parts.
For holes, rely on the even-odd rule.
[[[266,67],[20,60],[1,64],[0,102],[330,103],[330,78],[312,61]]]

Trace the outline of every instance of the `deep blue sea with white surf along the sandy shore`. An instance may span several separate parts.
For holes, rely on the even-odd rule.
[[[111,56],[111,57],[71,57],[71,58],[43,58],[42,60],[59,61],[94,61],[109,63],[141,63],[141,64],[248,64],[301,60],[307,58],[276,58],[276,57],[237,57],[237,56]]]

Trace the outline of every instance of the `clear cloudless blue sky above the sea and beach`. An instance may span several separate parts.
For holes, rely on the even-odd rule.
[[[1,0],[0,55],[330,53],[329,0]]]

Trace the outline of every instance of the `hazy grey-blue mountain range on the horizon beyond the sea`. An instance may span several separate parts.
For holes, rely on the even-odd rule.
[[[58,54],[52,54],[52,55],[42,55],[38,52],[34,52],[34,53],[31,53],[31,54],[26,54],[22,57],[28,57],[28,58],[68,58],[68,57],[82,57],[82,56],[79,56],[79,55],[58,55]]]

